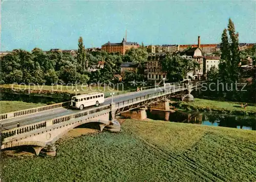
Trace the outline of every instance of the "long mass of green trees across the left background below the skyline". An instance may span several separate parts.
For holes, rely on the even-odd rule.
[[[104,69],[88,73],[86,65],[105,61]],[[87,53],[82,37],[78,40],[76,57],[70,53],[49,51],[35,48],[32,52],[13,50],[1,58],[1,83],[91,83],[109,82],[115,73],[120,73],[123,61],[144,63],[147,60],[145,49],[131,49],[124,56],[120,53],[96,51]]]

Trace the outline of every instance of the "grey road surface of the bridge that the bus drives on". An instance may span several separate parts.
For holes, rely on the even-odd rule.
[[[171,89],[173,86],[168,86],[165,89]],[[128,99],[133,99],[136,97],[141,97],[147,94],[154,94],[156,92],[159,92],[163,89],[163,87],[159,88],[152,88],[152,89],[147,89],[147,90],[142,90],[140,92],[134,92],[131,94],[124,94],[124,95],[119,95],[113,98],[113,102],[122,102],[126,101]],[[102,103],[101,105],[108,105],[111,103],[111,98],[106,98],[105,102]],[[84,110],[90,109],[94,106],[86,107]],[[51,120],[57,117],[65,116],[65,115],[70,115],[71,113],[76,113],[79,112],[80,110],[78,109],[67,109],[67,108],[57,108],[53,110],[47,110],[43,112],[37,112],[33,113],[31,115],[27,116],[22,116],[22,117],[17,117],[17,118],[10,118],[6,119],[4,121],[1,121],[0,123],[3,124],[4,128],[3,130],[8,130],[17,127],[17,123],[19,122],[20,126],[40,122],[40,121],[46,121],[46,120]]]

